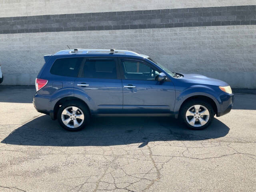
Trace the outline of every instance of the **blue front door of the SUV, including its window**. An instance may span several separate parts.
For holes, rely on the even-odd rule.
[[[123,109],[125,113],[170,113],[175,89],[171,80],[155,80],[161,72],[142,60],[121,59]]]

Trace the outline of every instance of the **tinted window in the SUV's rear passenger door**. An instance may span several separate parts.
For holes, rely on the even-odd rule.
[[[114,60],[88,60],[84,64],[83,77],[116,79],[116,62]]]

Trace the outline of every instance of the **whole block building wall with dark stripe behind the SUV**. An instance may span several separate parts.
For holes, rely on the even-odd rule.
[[[255,5],[256,0],[0,0],[3,84],[34,84],[43,56],[68,45],[132,50],[175,72],[256,88]]]

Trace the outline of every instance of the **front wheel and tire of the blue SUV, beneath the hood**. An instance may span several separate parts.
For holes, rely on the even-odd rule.
[[[181,120],[192,130],[203,130],[207,128],[212,123],[214,114],[212,105],[204,100],[188,101],[180,110]]]

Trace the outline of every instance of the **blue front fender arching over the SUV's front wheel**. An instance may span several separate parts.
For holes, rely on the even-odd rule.
[[[174,105],[174,114],[175,117],[178,117],[178,113],[181,105],[184,101],[192,96],[206,96],[211,98],[217,106],[217,110],[220,108],[220,104],[216,98],[220,93],[216,92],[213,88],[202,85],[193,85],[182,91],[176,91],[176,101]]]

